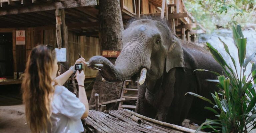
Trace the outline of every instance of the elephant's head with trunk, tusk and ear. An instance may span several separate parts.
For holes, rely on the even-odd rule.
[[[122,40],[123,48],[115,65],[102,56],[89,61],[92,68],[96,63],[104,65],[100,73],[107,81],[125,81],[140,74],[141,85],[145,79],[159,79],[164,70],[184,67],[181,43],[162,20],[133,21],[123,31]]]

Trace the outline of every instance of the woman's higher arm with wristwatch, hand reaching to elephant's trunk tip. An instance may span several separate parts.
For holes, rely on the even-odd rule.
[[[85,64],[85,59],[83,57],[79,58],[76,60],[75,64],[79,64],[79,63],[83,63]],[[73,66],[75,67],[75,65]],[[61,74],[60,76],[56,77],[54,80],[59,84],[59,85],[63,85],[65,84],[65,82],[68,80],[68,78],[73,74],[73,70],[67,70],[66,72],[64,72],[63,74]]]

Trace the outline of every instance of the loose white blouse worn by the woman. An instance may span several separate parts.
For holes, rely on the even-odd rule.
[[[48,123],[48,133],[81,133],[84,127],[81,117],[85,106],[64,86],[55,86],[52,101],[51,123]]]

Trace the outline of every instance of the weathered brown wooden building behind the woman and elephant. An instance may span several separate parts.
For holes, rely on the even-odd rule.
[[[200,27],[186,11],[183,0],[120,0],[124,26],[134,17],[165,16],[175,34],[193,40]],[[13,79],[22,73],[31,49],[39,44],[67,48],[68,64],[74,64],[78,53],[88,60],[101,55],[97,0],[0,0],[0,77]],[[66,29],[66,30],[65,30]],[[57,32],[56,32],[57,31]],[[61,32],[59,32],[61,31]],[[57,34],[56,34],[57,33]],[[25,40],[18,37],[25,37]],[[66,35],[67,34],[67,35]],[[62,38],[56,36],[62,36]],[[65,38],[67,40],[65,40]],[[19,40],[21,39],[21,40]],[[17,43],[24,41],[24,43]],[[97,71],[87,69],[86,78],[96,77]],[[20,83],[20,80],[0,82]]]

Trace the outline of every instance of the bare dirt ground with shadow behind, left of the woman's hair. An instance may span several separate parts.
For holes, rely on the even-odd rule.
[[[30,133],[19,85],[0,86],[0,133]]]

